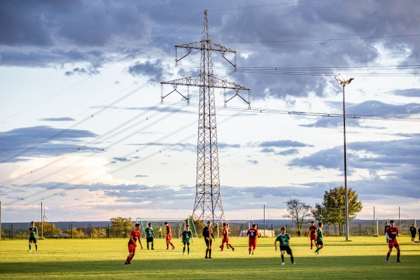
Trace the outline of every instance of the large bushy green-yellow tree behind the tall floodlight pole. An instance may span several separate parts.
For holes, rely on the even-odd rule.
[[[347,189],[347,201],[349,202],[349,221],[353,221],[356,214],[363,209],[362,202],[358,201],[358,195],[351,188]],[[312,215],[323,223],[339,225],[339,234],[342,235],[342,225],[346,223],[344,187],[325,190],[323,202],[315,204]]]

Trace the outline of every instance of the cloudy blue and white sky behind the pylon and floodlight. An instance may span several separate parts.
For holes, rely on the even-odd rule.
[[[211,40],[237,51],[212,52],[214,75],[251,88],[251,109],[215,90],[226,220],[281,219],[288,199],[314,207],[344,186],[337,75],[354,78],[344,96],[357,218],[420,218],[418,1],[10,0],[3,223],[193,214],[199,88],[161,82],[200,73],[200,51],[175,45],[202,39],[204,10]]]

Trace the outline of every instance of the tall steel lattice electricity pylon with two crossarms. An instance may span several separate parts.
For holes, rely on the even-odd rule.
[[[202,40],[193,43],[186,43],[183,45],[175,45],[178,48],[185,48],[187,54],[178,59],[178,52],[176,51],[175,62],[178,63],[181,59],[190,54],[192,50],[201,51],[200,75],[190,76],[187,78],[180,78],[161,82],[162,95],[161,100],[167,97],[172,92],[178,92],[179,85],[188,85],[200,87],[200,102],[198,113],[198,141],[197,141],[197,181],[195,203],[193,209],[193,218],[196,220],[211,220],[224,221],[225,214],[223,212],[223,205],[221,199],[221,183],[219,176],[218,165],[218,143],[217,143],[217,125],[216,125],[216,105],[214,101],[214,88],[223,88],[225,90],[225,105],[233,97],[240,97],[248,104],[250,108],[251,93],[250,88],[243,87],[237,83],[232,83],[228,80],[217,78],[213,75],[213,58],[212,52],[221,52],[223,58],[230,62],[226,57],[226,52],[235,54],[235,63],[230,62],[236,69],[236,50],[231,50],[223,45],[211,41],[209,32],[209,21],[207,19],[207,10],[204,10],[204,26],[202,32]],[[163,95],[163,85],[172,85],[174,90],[169,94]],[[235,95],[226,99],[226,90],[235,90]],[[241,97],[240,90],[248,91],[248,101]],[[185,97],[189,104],[189,95]]]

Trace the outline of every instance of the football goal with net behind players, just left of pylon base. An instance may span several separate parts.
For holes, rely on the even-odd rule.
[[[145,218],[137,218],[137,223],[141,225],[141,232],[145,236],[144,230],[148,228],[148,224],[152,224],[153,232],[155,233],[155,238],[165,239],[165,235],[167,233],[165,222],[169,224],[171,227],[172,238],[182,238],[182,232],[186,229],[187,223],[190,225],[190,230],[193,232],[193,236],[197,237],[197,232],[195,231],[194,223],[189,221],[189,219],[145,219]]]

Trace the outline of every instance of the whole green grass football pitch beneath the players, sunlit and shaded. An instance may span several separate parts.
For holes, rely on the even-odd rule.
[[[124,265],[128,239],[45,239],[38,252],[27,252],[27,240],[0,241],[0,279],[400,279],[420,275],[420,243],[400,237],[403,263],[396,251],[386,263],[385,237],[324,237],[324,248],[315,255],[307,237],[292,237],[296,265],[281,264],[274,251],[274,238],[258,239],[255,255],[248,255],[248,239],[231,238],[235,251],[220,251],[216,239],[212,259],[204,259],[203,239],[195,239],[191,255],[182,255],[181,240],[176,249],[165,250],[164,239],[155,239],[155,250],[137,247],[132,265]],[[34,246],[33,246],[34,247]]]

